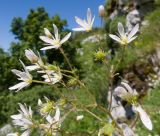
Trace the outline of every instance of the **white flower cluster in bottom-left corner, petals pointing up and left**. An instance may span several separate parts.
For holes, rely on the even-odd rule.
[[[12,115],[11,118],[13,119],[13,124],[15,126],[20,126],[21,130],[24,130],[21,136],[29,136],[31,128],[34,125],[32,122],[33,112],[30,106],[27,108],[25,104],[22,105],[21,103],[19,103],[19,106],[19,114]]]

